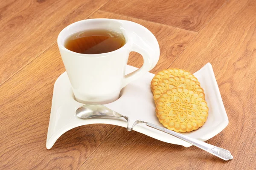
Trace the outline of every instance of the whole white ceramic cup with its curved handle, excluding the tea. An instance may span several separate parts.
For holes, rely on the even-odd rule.
[[[64,47],[65,40],[79,31],[107,29],[122,33],[125,45],[102,54],[79,54]],[[58,35],[61,53],[74,96],[81,103],[106,104],[119,98],[125,85],[142,77],[157,64],[160,50],[157,39],[140,24],[114,19],[81,20],[64,28]],[[143,56],[143,66],[125,75],[130,51]]]

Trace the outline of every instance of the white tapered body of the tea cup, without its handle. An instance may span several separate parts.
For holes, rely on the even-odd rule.
[[[102,54],[80,54],[65,48],[65,42],[72,34],[99,29],[123,34],[125,44]],[[119,98],[131,46],[121,22],[112,19],[81,20],[64,28],[57,42],[76,101],[107,104]]]

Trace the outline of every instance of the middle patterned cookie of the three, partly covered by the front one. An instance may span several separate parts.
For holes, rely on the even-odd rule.
[[[154,101],[166,92],[167,90],[171,90],[172,88],[183,87],[188,90],[192,90],[198,92],[199,96],[204,99],[204,90],[200,87],[199,82],[195,82],[194,80],[186,77],[169,77],[168,79],[163,79],[161,82],[155,86],[153,91]]]

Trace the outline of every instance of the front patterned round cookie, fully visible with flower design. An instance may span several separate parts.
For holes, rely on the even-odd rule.
[[[172,88],[156,102],[159,122],[175,132],[191,132],[204,125],[208,116],[207,102],[197,92]]]

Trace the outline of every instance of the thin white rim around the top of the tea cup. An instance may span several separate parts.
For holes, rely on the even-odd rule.
[[[61,48],[61,49],[64,50],[64,51],[67,51],[67,52],[69,52],[69,53],[73,53],[73,54],[75,54],[75,55],[77,55],[77,56],[79,56],[79,57],[106,57],[106,56],[108,56],[108,55],[111,55],[111,54],[113,54],[113,53],[116,53],[117,51],[122,50],[123,48],[126,48],[126,46],[128,45],[129,40],[128,40],[128,37],[126,36],[126,34],[124,34],[124,33],[122,32],[122,34],[124,34],[124,36],[125,36],[125,45],[123,45],[121,48],[118,48],[118,49],[116,49],[116,50],[114,50],[114,51],[110,51],[110,52],[107,52],[107,53],[100,53],[100,54],[81,54],[81,53],[77,53],[77,52],[74,52],[74,51],[71,51],[71,50],[67,49],[67,48],[64,46],[64,44],[61,42],[61,34],[64,34],[63,32],[66,31],[67,29],[69,29],[70,26],[73,26],[73,25],[78,24],[78,23],[86,22],[86,21],[89,21],[89,20],[112,20],[112,21],[114,21],[114,22],[118,22],[118,20],[116,20],[116,19],[94,18],[94,19],[80,20],[80,21],[77,21],[77,22],[75,22],[75,23],[72,23],[72,24],[66,26],[65,28],[63,28],[63,29],[61,30],[61,32],[58,34],[58,38],[57,38],[58,47]],[[119,23],[122,24],[121,22],[119,22]],[[125,28],[123,28],[122,26],[120,27],[120,29],[121,29],[121,30],[125,30]]]

